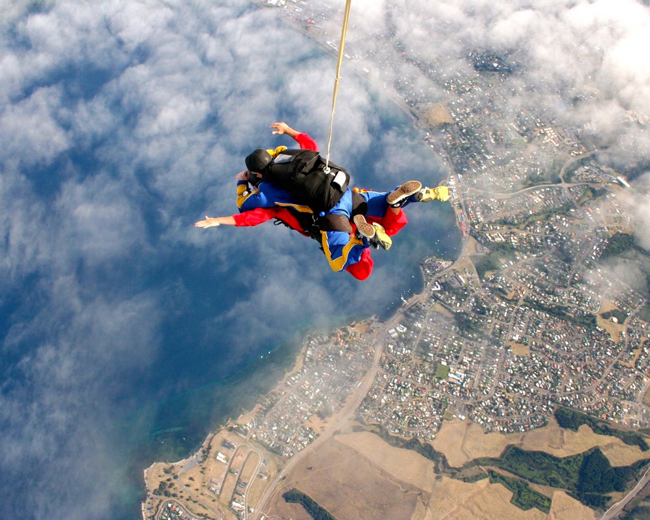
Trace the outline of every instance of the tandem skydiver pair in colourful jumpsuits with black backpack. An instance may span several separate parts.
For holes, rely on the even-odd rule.
[[[372,248],[388,250],[408,220],[403,208],[413,202],[446,201],[448,188],[406,181],[389,192],[349,188],[350,175],[318,155],[316,142],[287,123],[273,123],[276,135],[289,135],[297,149],[257,149],[239,172],[239,214],[206,216],[196,227],[257,226],[271,220],[319,242],[332,270],[364,280],[372,272]]]

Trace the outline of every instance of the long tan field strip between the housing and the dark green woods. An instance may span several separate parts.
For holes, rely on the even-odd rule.
[[[649,456],[616,437],[597,435],[586,425],[580,426],[577,432],[564,430],[555,419],[543,428],[523,434],[488,434],[471,421],[444,422],[432,443],[455,467],[478,457],[498,457],[510,444],[525,450],[542,450],[556,457],[575,455],[599,446],[615,466],[628,465]]]

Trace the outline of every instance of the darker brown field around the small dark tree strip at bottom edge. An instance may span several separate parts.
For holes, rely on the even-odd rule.
[[[305,454],[274,495],[268,517],[292,517],[281,494],[293,487],[340,520],[411,520],[422,495],[334,439]]]

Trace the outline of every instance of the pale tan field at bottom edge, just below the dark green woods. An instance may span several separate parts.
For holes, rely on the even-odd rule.
[[[443,477],[430,495],[430,506],[423,520],[544,520],[546,513],[538,509],[522,511],[510,504],[512,491],[501,484],[480,480],[465,484]],[[415,519],[413,519],[415,520]]]

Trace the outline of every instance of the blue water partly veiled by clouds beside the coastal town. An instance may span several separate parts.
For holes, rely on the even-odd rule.
[[[257,25],[250,23],[248,30],[255,32]],[[278,66],[269,70],[288,62],[307,72],[333,67],[333,58],[320,47],[301,41],[291,57],[274,55]],[[156,49],[155,42],[137,47],[133,63],[126,65],[137,69]],[[234,61],[230,79],[246,66]],[[101,97],[105,84],[120,77],[120,66],[126,65],[67,63],[49,78],[34,79],[22,95],[27,99],[41,86],[61,85],[57,116],[62,127],[74,128],[66,110]],[[389,190],[409,179],[425,185],[441,181],[445,170],[409,117],[350,71],[345,77],[331,159],[348,169],[353,184]],[[402,304],[400,297],[421,291],[421,259],[456,257],[460,232],[454,214],[450,205],[437,202],[407,208],[409,225],[394,237],[389,252],[372,253],[374,272],[364,282],[331,272],[315,242],[283,227],[194,229],[204,211],[235,211],[230,179],[250,149],[292,146],[288,138],[269,135],[272,118],[295,122],[324,149],[328,121],[311,116],[321,101],[292,97],[291,81],[279,77],[270,85],[287,92],[276,96],[270,109],[266,99],[250,101],[266,111],[250,118],[246,137],[236,140],[226,103],[240,96],[236,115],[244,118],[253,94],[237,92],[234,79],[230,91],[205,94],[214,96],[215,106],[190,137],[201,142],[204,133],[213,133],[211,144],[225,150],[200,162],[200,170],[211,169],[214,179],[196,180],[192,164],[188,172],[185,165],[175,170],[180,181],[164,177],[177,166],[174,154],[191,148],[182,136],[161,145],[161,155],[177,146],[168,161],[156,162],[157,155],[142,160],[138,146],[151,142],[140,137],[137,124],[148,98],[142,94],[134,101],[110,89],[106,106],[118,120],[116,131],[84,135],[49,162],[29,164],[24,158],[31,151],[23,156],[20,149],[16,157],[2,159],[3,175],[29,187],[5,193],[0,183],[5,213],[16,222],[25,214],[49,233],[43,238],[31,230],[34,236],[26,243],[43,240],[39,254],[24,246],[16,255],[10,244],[31,228],[5,230],[4,247],[12,253],[7,262],[15,265],[3,270],[0,292],[0,469],[5,472],[0,491],[9,493],[8,482],[12,487],[10,494],[2,493],[8,499],[1,512],[28,519],[57,517],[62,510],[70,518],[138,517],[142,469],[155,460],[184,458],[227,417],[252,408],[291,366],[305,333],[373,315],[388,317]],[[365,105],[346,110],[355,98]],[[363,118],[363,124],[356,127],[346,112]],[[14,159],[25,164],[10,177]],[[123,178],[126,188],[115,189],[111,183]],[[166,188],[175,182],[176,190]],[[190,183],[196,188],[186,188]],[[116,211],[93,220],[94,211],[111,209],[114,200],[120,203]],[[120,219],[120,211],[130,212],[129,218]],[[71,222],[77,227],[68,227]],[[57,237],[60,229],[66,233]],[[133,243],[132,235],[137,235]],[[130,246],[111,255],[103,246],[110,251],[114,242]],[[65,484],[57,480],[62,474]]]

